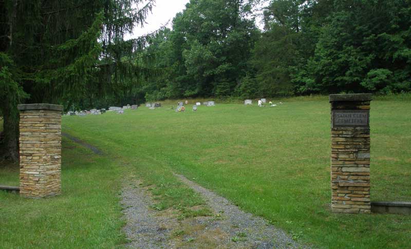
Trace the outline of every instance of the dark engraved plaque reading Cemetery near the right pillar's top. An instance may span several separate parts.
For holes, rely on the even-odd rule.
[[[369,110],[333,110],[331,123],[332,128],[368,128]]]

